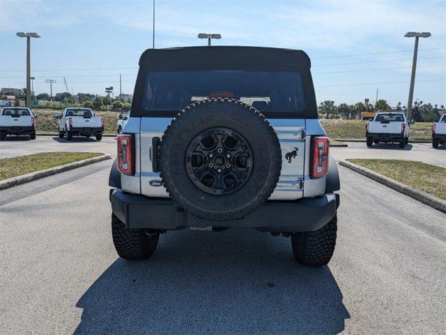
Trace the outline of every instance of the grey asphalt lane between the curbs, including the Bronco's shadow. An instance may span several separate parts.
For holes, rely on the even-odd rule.
[[[128,262],[112,244],[111,164],[0,191],[0,334],[446,333],[446,214],[339,167],[328,266],[236,229],[168,232]]]

